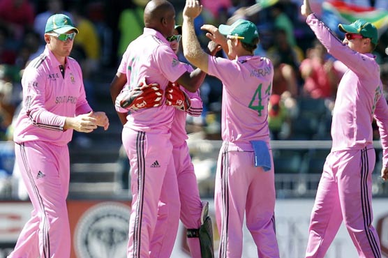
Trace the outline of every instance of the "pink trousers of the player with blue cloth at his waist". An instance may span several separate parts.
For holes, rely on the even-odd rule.
[[[220,258],[241,257],[244,213],[258,257],[279,257],[274,218],[274,164],[271,161],[271,170],[264,172],[262,167],[254,166],[254,161],[253,151],[228,151],[224,142],[218,157],[214,200],[221,238]]]

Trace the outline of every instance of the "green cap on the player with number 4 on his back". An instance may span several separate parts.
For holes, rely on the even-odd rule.
[[[244,19],[239,19],[236,22],[233,22],[232,25],[221,24],[218,27],[218,31],[225,36],[232,35],[244,37],[244,39],[241,39],[241,42],[249,45],[254,45],[254,40],[259,38],[258,28],[256,25],[253,22],[249,22]]]

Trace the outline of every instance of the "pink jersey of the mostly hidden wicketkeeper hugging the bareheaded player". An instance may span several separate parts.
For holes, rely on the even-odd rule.
[[[186,63],[186,68],[189,73],[191,73],[194,69],[189,64]],[[200,90],[192,93],[184,89],[184,87],[180,86],[180,89],[184,91],[187,96],[191,100],[191,106],[186,112],[182,110],[176,110],[174,121],[172,122],[171,127],[171,143],[174,147],[182,146],[185,143],[187,137],[186,132],[186,116],[187,114],[191,116],[200,116],[202,114],[202,99],[200,97]]]

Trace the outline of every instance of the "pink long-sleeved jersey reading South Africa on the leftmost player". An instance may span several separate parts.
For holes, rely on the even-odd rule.
[[[80,65],[66,58],[65,77],[59,66],[46,46],[43,54],[24,70],[23,107],[15,123],[15,142],[40,140],[66,145],[73,135],[73,130],[64,130],[66,116],[91,112]]]

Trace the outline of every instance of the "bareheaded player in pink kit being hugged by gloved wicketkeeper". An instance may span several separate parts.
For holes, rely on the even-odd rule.
[[[197,91],[202,83],[202,75],[188,73],[167,41],[174,31],[174,6],[166,0],[149,1],[144,9],[144,24],[144,33],[128,45],[110,86],[114,103],[124,86],[133,89],[144,81],[144,85],[158,84],[163,92],[168,82],[178,82],[188,91]],[[170,128],[176,108],[164,104],[164,95],[161,98],[163,104],[158,107],[151,106],[145,100],[135,103],[137,108],[151,108],[139,108],[128,116],[128,110],[123,112],[117,109],[123,112],[127,120],[122,139],[131,168],[133,200],[128,257],[158,257],[151,252],[151,241],[159,199],[168,200],[168,216],[172,218],[169,234],[175,237],[179,226],[181,207],[170,142]]]

